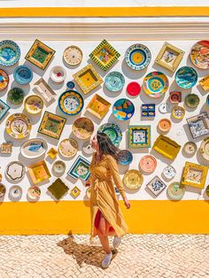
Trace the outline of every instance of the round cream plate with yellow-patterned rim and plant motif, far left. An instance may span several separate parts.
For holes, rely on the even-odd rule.
[[[25,114],[12,114],[6,121],[6,132],[15,139],[22,139],[30,134],[31,123]]]

